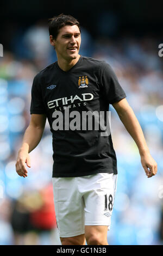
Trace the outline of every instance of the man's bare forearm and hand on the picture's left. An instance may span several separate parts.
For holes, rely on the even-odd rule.
[[[24,133],[23,142],[20,150],[18,151],[16,161],[16,172],[18,175],[27,176],[27,168],[30,167],[29,153],[37,147],[39,144],[43,130],[45,128],[46,115],[44,114],[32,114],[30,124]]]

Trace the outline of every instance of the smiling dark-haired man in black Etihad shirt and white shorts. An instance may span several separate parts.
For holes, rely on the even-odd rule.
[[[88,124],[89,120],[83,118],[83,113],[96,113],[96,119],[112,104],[139,148],[148,178],[156,174],[156,162],[110,66],[78,54],[79,22],[70,15],[54,17],[49,23],[49,35],[58,62],[34,78],[32,115],[18,151],[16,171],[27,176],[25,163],[30,167],[29,153],[39,144],[48,118],[53,133],[54,205],[61,243],[85,245],[86,239],[88,245],[108,245],[116,191],[116,155],[104,125],[98,130],[95,126],[85,129],[83,123]],[[74,121],[75,115],[78,119]],[[106,120],[104,117],[104,124]]]

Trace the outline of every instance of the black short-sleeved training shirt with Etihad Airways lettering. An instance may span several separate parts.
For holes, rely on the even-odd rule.
[[[84,119],[82,114],[106,113],[109,104],[124,97],[126,94],[110,65],[89,57],[81,56],[66,72],[55,62],[34,77],[30,113],[46,114],[48,118],[53,134],[53,177],[117,174],[111,135],[102,136],[104,130],[95,129],[95,124],[91,130],[87,126],[82,130],[82,121],[87,124],[91,120]],[[65,121],[66,111],[70,117]],[[74,113],[78,114],[76,121]],[[73,129],[67,126],[70,123]]]

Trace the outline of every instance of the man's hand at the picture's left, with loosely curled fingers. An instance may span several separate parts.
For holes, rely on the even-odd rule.
[[[18,156],[17,156],[17,161],[16,161],[16,172],[18,175],[23,176],[24,178],[27,177],[27,168],[26,164],[28,167],[30,167],[30,157],[29,153],[25,150],[19,150],[18,151]]]

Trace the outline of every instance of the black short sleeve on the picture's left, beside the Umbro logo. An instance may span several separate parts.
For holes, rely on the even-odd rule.
[[[33,80],[31,96],[30,114],[45,114],[46,109],[42,99],[41,84],[38,74]]]

